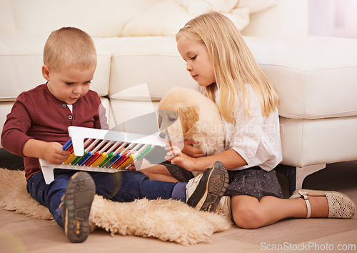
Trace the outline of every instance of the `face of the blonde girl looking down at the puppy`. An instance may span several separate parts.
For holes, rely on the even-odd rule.
[[[208,86],[216,82],[213,65],[205,44],[179,36],[177,49],[187,63],[187,71],[199,86]]]

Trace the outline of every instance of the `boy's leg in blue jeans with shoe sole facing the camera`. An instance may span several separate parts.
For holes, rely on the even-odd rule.
[[[28,180],[27,191],[49,208],[71,242],[86,240],[89,235],[89,212],[95,194],[95,184],[88,173],[55,170],[55,180],[46,184],[40,172]]]

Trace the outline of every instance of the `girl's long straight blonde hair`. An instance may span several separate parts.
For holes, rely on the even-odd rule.
[[[218,12],[197,16],[178,31],[176,41],[181,35],[207,47],[219,87],[218,107],[228,122],[234,123],[233,111],[238,96],[243,101],[245,114],[250,114],[246,84],[251,84],[256,90],[263,116],[268,116],[278,106],[276,89],[256,64],[236,26],[226,16]],[[214,88],[215,84],[205,88],[206,96],[213,101]]]

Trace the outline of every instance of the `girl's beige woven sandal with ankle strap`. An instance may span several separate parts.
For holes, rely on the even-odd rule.
[[[328,218],[343,218],[349,219],[356,212],[356,205],[353,201],[341,192],[318,191],[311,189],[298,189],[293,192],[290,199],[303,198],[306,202],[308,213],[306,218],[311,217],[311,205],[308,200],[311,197],[326,197],[328,202]]]

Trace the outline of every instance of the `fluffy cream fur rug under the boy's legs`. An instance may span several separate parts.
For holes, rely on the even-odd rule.
[[[49,209],[26,192],[23,171],[0,169],[0,207],[37,219],[53,219]],[[96,195],[89,219],[112,236],[154,237],[183,245],[210,242],[213,233],[231,227],[223,214],[198,212],[171,199],[119,203]]]

